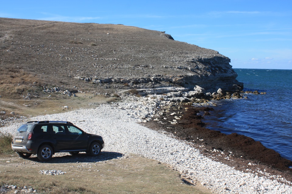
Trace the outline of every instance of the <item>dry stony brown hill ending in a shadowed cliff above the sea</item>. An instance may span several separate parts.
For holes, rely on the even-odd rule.
[[[171,35],[124,25],[0,18],[1,64],[17,65],[56,80],[96,87],[195,86],[216,92],[243,84],[217,51],[173,40]],[[52,79],[54,77],[54,79]],[[80,82],[80,81],[79,81]]]

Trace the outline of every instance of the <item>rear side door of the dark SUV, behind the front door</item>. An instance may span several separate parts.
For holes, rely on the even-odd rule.
[[[66,127],[64,124],[54,123],[52,124],[53,138],[56,142],[56,150],[59,152],[65,152],[71,147],[71,139],[66,133]]]

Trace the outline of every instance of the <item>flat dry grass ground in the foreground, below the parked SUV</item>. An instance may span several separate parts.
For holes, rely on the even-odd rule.
[[[38,192],[51,194],[210,193],[200,191],[201,187],[184,184],[178,172],[155,160],[131,156],[76,163],[86,157],[91,158],[80,154],[53,158],[48,163],[35,163],[36,157],[1,159],[0,185],[31,186]],[[58,176],[39,173],[51,169],[67,173]]]

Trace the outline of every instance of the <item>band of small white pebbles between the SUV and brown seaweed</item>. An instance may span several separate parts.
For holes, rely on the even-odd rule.
[[[86,132],[102,135],[105,141],[103,151],[139,154],[167,163],[215,193],[292,193],[291,182],[283,178],[259,177],[214,162],[187,142],[141,126],[128,115],[127,110],[112,105],[37,116],[30,120],[70,121]],[[2,127],[0,131],[13,133],[18,125]]]

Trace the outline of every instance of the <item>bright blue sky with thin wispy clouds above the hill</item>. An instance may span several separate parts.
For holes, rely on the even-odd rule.
[[[233,68],[292,69],[291,0],[2,0],[0,17],[137,26],[216,50]]]

